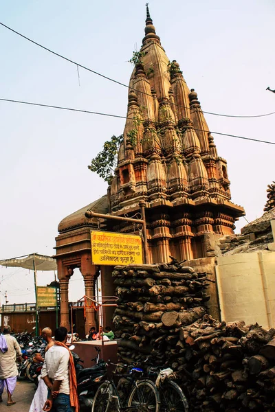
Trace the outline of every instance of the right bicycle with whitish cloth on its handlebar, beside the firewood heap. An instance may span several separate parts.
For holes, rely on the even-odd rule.
[[[165,372],[167,371],[167,374]],[[161,376],[162,374],[162,376]],[[170,374],[170,378],[169,378]],[[160,393],[160,412],[188,412],[188,401],[184,391],[174,382],[172,369],[164,367],[149,367],[148,377],[154,377]]]

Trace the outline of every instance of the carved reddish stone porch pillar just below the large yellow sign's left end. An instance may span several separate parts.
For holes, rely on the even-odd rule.
[[[94,283],[96,266],[91,264],[90,254],[83,255],[81,258],[81,273],[84,277],[85,295],[94,298]],[[87,300],[87,306],[91,306],[91,301]],[[86,308],[85,334],[89,333],[91,326],[96,326],[94,308]]]

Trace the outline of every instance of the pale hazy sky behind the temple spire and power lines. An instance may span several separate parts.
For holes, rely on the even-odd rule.
[[[145,1],[2,0],[0,21],[55,52],[128,84],[140,49]],[[261,115],[275,111],[273,0],[151,0],[151,17],[170,60],[205,111]],[[127,89],[79,69],[0,26],[0,98],[126,115]],[[79,85],[80,82],[80,85]],[[206,115],[210,130],[275,142],[275,115]],[[107,185],[87,165],[124,120],[0,101],[0,259],[54,254],[65,216],[104,195]],[[228,161],[232,201],[248,222],[263,214],[274,180],[275,145],[215,135]],[[247,221],[236,223],[238,233]],[[43,286],[54,273],[39,273]],[[34,301],[33,273],[0,266],[0,301]],[[69,299],[84,295],[71,278]]]

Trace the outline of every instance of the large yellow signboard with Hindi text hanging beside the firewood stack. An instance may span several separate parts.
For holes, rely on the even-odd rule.
[[[93,264],[142,264],[142,239],[104,231],[91,231],[91,260]]]

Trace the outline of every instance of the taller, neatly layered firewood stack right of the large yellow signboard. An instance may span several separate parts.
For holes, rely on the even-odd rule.
[[[162,323],[163,315],[175,325],[188,325],[206,314],[210,299],[206,273],[195,273],[173,260],[170,264],[115,266],[119,297],[113,323],[119,341],[118,355],[124,362],[142,361],[150,355],[164,363],[164,353],[173,350],[178,334]]]

